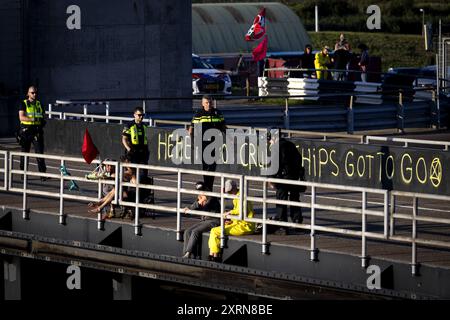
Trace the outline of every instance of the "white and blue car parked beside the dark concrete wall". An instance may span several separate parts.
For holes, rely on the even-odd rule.
[[[229,71],[215,69],[204,59],[192,54],[192,94],[231,94]]]

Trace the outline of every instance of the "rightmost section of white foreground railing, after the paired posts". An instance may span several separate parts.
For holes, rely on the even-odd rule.
[[[450,249],[450,243],[441,240],[424,239],[419,237],[417,232],[418,222],[428,222],[433,224],[446,225],[450,227],[450,219],[448,218],[437,218],[430,216],[419,216],[419,199],[422,200],[438,200],[450,203],[450,196],[439,196],[432,194],[414,193],[414,192],[402,192],[402,191],[391,191],[390,193],[390,235],[389,238],[394,241],[403,242],[411,244],[411,272],[413,275],[419,272],[419,263],[417,259],[417,245],[424,245],[433,248],[446,248]],[[405,214],[396,211],[396,199],[397,197],[405,197],[412,200],[412,213]],[[411,221],[411,235],[396,235],[396,220],[409,220]]]

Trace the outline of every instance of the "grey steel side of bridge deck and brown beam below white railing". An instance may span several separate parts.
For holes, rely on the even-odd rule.
[[[445,270],[439,268],[424,268],[423,276],[412,279],[405,272],[409,267],[407,264],[371,259],[371,264],[378,264],[382,270],[390,265],[394,265],[394,268],[389,279],[384,277],[387,273],[382,272],[380,289],[370,290],[366,287],[366,270],[360,267],[356,256],[321,252],[318,262],[310,262],[308,250],[277,244],[271,245],[270,255],[262,255],[258,242],[231,237],[224,263],[218,264],[180,258],[181,244],[174,240],[174,230],[147,226],[143,228],[143,236],[136,237],[132,226],[127,224],[109,224],[107,231],[99,231],[95,228],[94,219],[72,216],[69,217],[70,223],[61,227],[54,221],[54,215],[35,215],[33,224],[22,220],[20,211],[16,214],[13,212],[12,218],[14,229],[23,232],[0,230],[0,253],[4,255],[65,264],[75,262],[88,268],[138,277],[155,278],[156,275],[157,279],[163,281],[278,299],[303,299],[305,292],[315,292],[309,297],[314,299],[323,296],[333,298],[331,293],[334,298],[357,296],[404,299],[439,298],[448,294],[448,290],[441,290],[441,286],[437,285],[449,277]],[[45,228],[40,225],[45,225]],[[122,243],[119,243],[119,234]],[[61,239],[62,236],[65,239]],[[204,235],[203,247],[207,247],[207,239]],[[123,247],[118,247],[120,245]],[[110,255],[114,258],[109,259]],[[98,257],[107,259],[98,260]],[[231,278],[223,280],[227,277]],[[386,279],[391,285],[386,285]],[[278,293],[267,294],[265,284],[272,281],[275,284],[269,284],[268,288],[278,290]],[[291,285],[298,288],[292,294],[289,289]],[[320,295],[316,295],[318,292]]]

